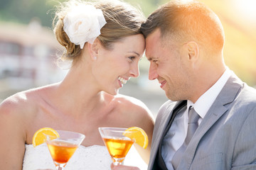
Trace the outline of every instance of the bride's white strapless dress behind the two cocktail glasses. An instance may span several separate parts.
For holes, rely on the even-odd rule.
[[[111,163],[112,159],[105,146],[84,147],[80,145],[68,161],[65,170],[109,170]],[[138,166],[140,169],[147,168],[134,147],[128,152],[124,164]],[[36,169],[55,169],[53,159],[50,157],[50,152],[45,143],[37,147],[26,145],[23,170]]]

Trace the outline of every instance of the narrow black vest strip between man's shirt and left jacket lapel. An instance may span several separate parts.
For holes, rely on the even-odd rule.
[[[154,166],[153,166],[153,169],[155,170],[160,170],[160,169],[164,169],[164,170],[167,170],[166,168],[166,164],[164,162],[164,159],[163,157],[161,156],[161,145],[162,145],[162,142],[164,140],[164,137],[166,135],[166,133],[169,131],[170,127],[171,127],[171,123],[173,123],[174,121],[174,118],[175,116],[178,114],[179,111],[181,111],[181,109],[183,107],[186,106],[186,103],[187,101],[182,101],[173,111],[172,115],[171,115],[171,119],[169,121],[169,124],[167,125],[166,127],[166,130],[164,130],[164,133],[163,133],[163,136],[161,137],[161,140],[160,140],[160,143],[159,143],[159,150],[156,154],[156,159],[154,161]]]

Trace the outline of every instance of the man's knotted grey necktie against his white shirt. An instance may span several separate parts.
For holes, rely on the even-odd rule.
[[[198,128],[199,118],[200,116],[198,115],[198,113],[196,113],[193,107],[190,106],[188,108],[188,132],[186,138],[181,147],[175,152],[174,157],[171,159],[171,164],[174,166],[174,169],[178,168],[178,164],[181,162],[183,153],[185,152],[188,143],[190,142],[191,138],[193,137],[193,134],[196,132],[196,129]]]

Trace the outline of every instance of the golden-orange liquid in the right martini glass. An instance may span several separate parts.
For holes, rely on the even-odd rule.
[[[119,162],[123,162],[126,157],[129,149],[132,147],[134,143],[133,140],[130,140],[128,137],[125,138],[104,138],[102,139],[105,142],[105,145],[110,152],[110,156],[112,157],[113,162],[119,159]]]

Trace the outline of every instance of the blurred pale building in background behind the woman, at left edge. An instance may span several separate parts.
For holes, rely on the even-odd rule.
[[[52,31],[37,20],[0,23],[0,98],[61,79],[65,72],[54,62],[59,50]]]

